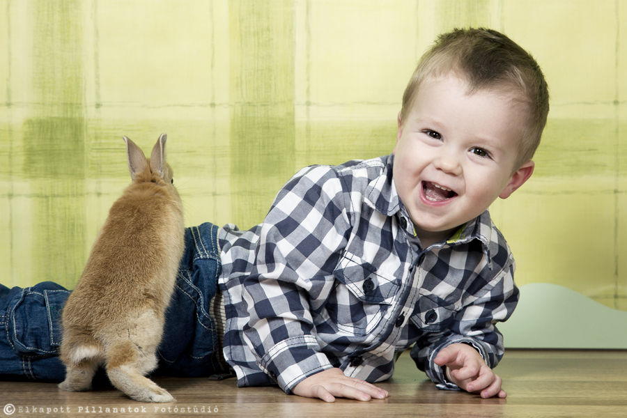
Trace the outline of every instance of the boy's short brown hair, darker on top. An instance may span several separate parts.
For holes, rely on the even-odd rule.
[[[405,93],[401,123],[422,82],[456,73],[468,82],[468,94],[502,90],[516,95],[528,109],[527,128],[516,167],[532,159],[549,111],[548,86],[536,60],[516,42],[492,29],[454,29],[438,36],[420,59]]]

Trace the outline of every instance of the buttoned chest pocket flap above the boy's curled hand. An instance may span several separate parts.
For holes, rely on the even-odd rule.
[[[433,293],[421,293],[410,319],[423,331],[442,332],[451,326],[457,311],[456,304]]]

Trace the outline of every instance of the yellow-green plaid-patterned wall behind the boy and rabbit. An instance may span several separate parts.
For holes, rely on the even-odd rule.
[[[551,284],[623,314],[624,0],[0,0],[0,283],[74,286],[130,180],[122,135],[168,133],[188,225],[242,229],[300,167],[391,152],[415,63],[455,26],[504,31],[550,86],[536,172],[491,209],[521,311]]]

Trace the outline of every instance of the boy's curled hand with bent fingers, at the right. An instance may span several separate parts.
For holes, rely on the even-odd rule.
[[[503,380],[488,367],[472,346],[451,344],[442,349],[433,362],[445,366],[447,379],[467,392],[480,393],[482,398],[507,396],[501,389]]]

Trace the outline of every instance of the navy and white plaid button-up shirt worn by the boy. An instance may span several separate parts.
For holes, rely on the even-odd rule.
[[[299,171],[263,224],[220,232],[224,356],[238,386],[286,392],[339,367],[379,382],[397,354],[440,388],[433,363],[470,343],[490,367],[503,355],[494,324],[518,302],[514,261],[488,212],[422,250],[392,180],[394,157]]]

